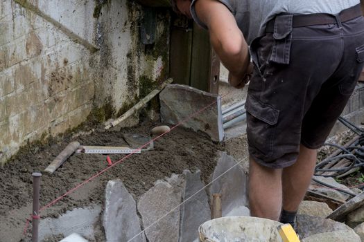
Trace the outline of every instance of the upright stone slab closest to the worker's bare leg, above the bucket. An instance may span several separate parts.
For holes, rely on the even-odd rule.
[[[218,176],[236,165],[236,163],[232,156],[220,151],[212,180],[218,178]],[[210,194],[221,194],[223,216],[226,216],[236,207],[248,205],[247,185],[247,176],[239,165],[227,171],[226,174],[211,185]]]

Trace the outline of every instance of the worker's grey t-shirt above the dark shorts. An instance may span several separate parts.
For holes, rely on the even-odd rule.
[[[191,14],[197,24],[207,28],[196,15],[195,3],[191,3]],[[275,15],[292,13],[306,15],[324,12],[337,14],[341,10],[360,3],[360,0],[217,0],[232,12],[236,23],[243,32],[248,44],[263,35],[266,24]]]

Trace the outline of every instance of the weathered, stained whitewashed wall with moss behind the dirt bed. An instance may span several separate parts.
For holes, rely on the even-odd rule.
[[[168,10],[157,10],[150,46],[139,41],[143,16],[127,0],[0,0],[0,163],[90,114],[127,111],[166,78]]]

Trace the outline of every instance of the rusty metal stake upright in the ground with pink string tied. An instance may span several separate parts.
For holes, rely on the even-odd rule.
[[[38,242],[39,210],[40,210],[40,172],[34,172],[33,176],[33,212],[32,212],[32,242]]]

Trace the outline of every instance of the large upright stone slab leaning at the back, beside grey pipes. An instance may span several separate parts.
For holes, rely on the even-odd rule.
[[[185,121],[182,122],[183,127],[207,133],[215,141],[223,140],[219,95],[200,91],[191,86],[169,84],[159,94],[159,99],[163,122],[177,124]],[[196,112],[199,113],[187,120]]]

